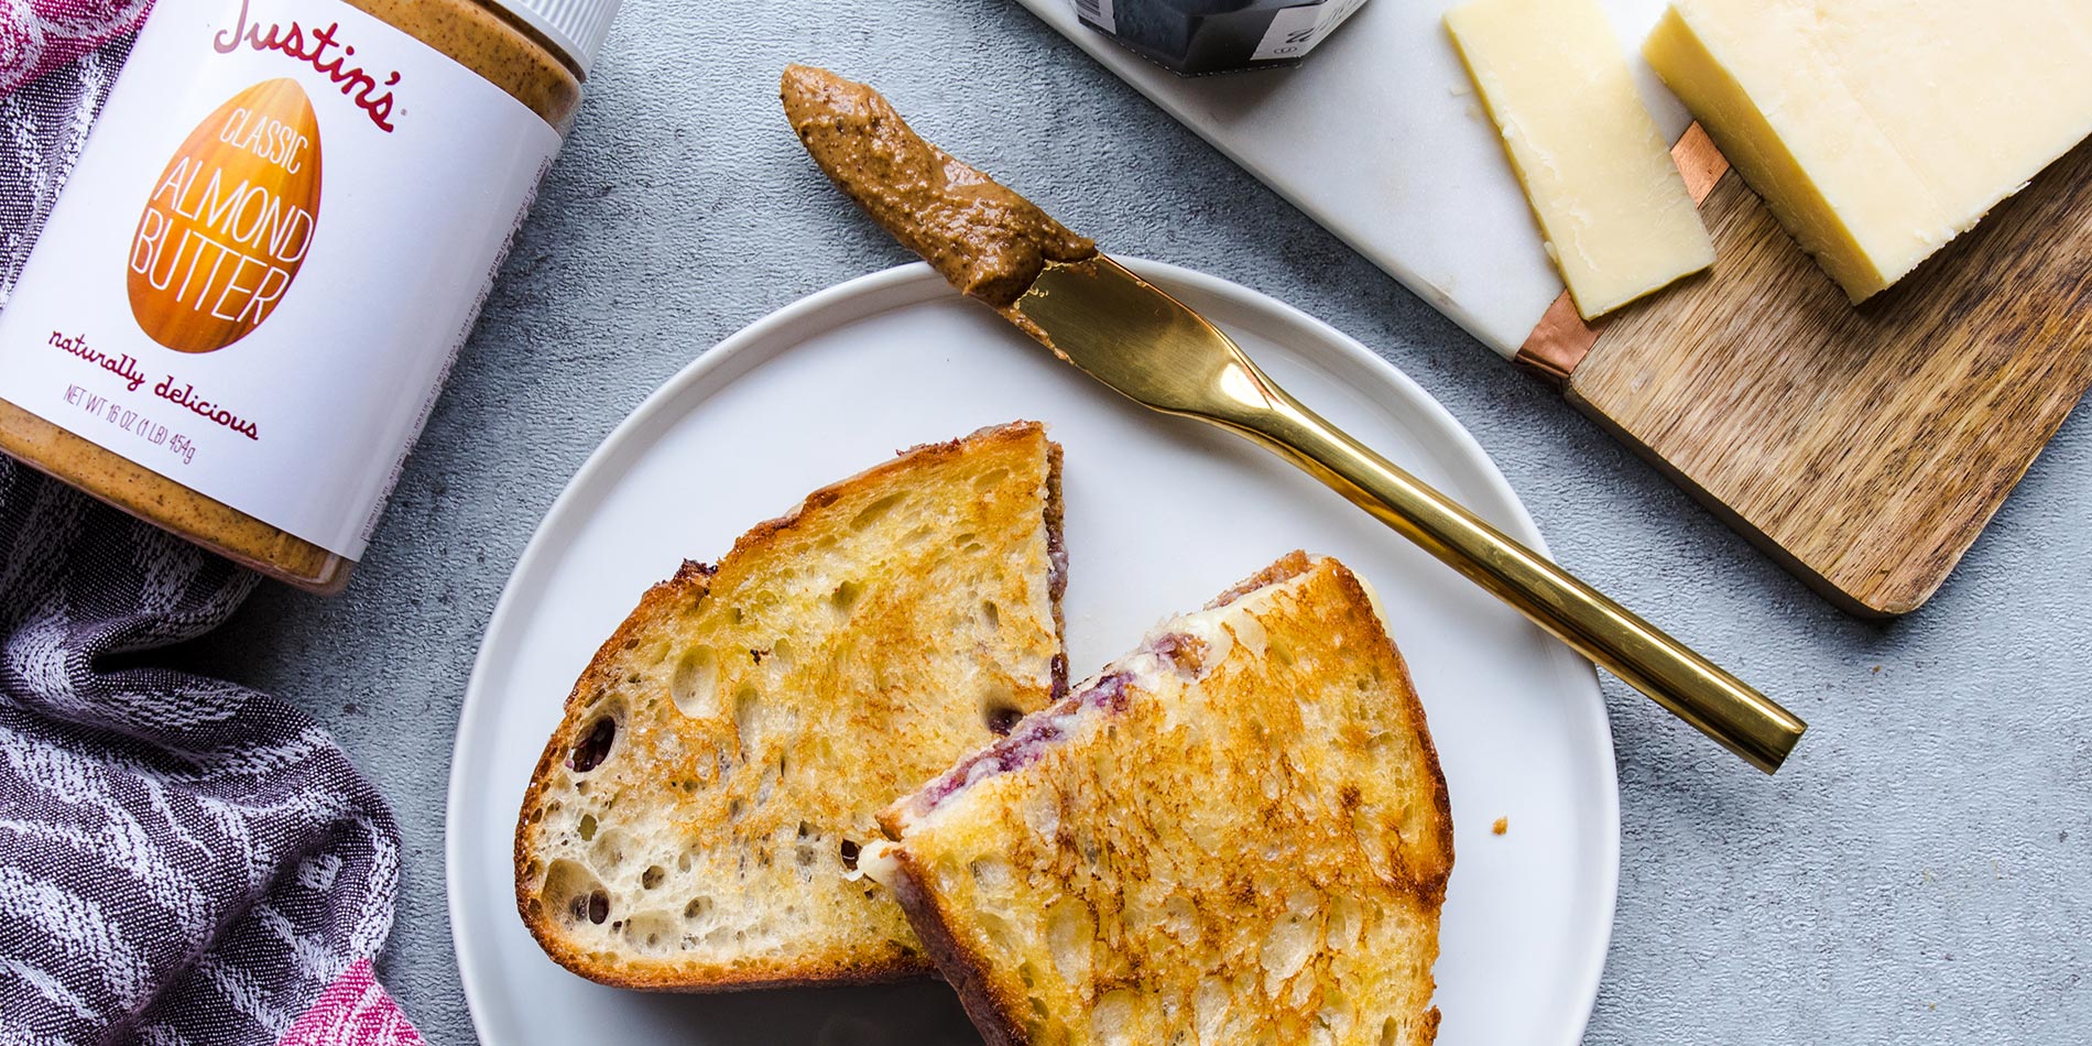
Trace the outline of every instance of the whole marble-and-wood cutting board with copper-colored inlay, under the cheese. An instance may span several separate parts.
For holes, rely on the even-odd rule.
[[[1638,59],[1665,0],[1600,0],[1718,259],[1592,331],[1439,25],[1454,0],[1197,79],[1021,2],[1851,613],[1923,605],[2092,385],[2088,146],[1851,308]]]

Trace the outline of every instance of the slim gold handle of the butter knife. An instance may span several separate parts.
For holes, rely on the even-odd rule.
[[[1791,711],[1251,372],[1259,410],[1207,420],[1293,460],[1751,766],[1772,774],[1801,741]]]

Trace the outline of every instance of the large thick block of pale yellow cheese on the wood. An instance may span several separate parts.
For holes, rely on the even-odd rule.
[[[1642,52],[1854,301],[2092,134],[2092,0],[1674,0]]]

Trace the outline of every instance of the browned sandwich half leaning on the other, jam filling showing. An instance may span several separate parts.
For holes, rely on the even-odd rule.
[[[1372,596],[1301,552],[881,814],[981,1036],[1429,1044],[1446,778]]]

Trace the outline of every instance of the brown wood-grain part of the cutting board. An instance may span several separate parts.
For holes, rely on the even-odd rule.
[[[1854,613],[1923,605],[2092,385],[2092,142],[1862,308],[1734,172],[1715,266],[1623,308],[1567,395]]]

